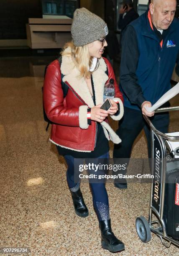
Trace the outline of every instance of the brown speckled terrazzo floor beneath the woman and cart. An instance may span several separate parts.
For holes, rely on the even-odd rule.
[[[0,59],[0,248],[27,247],[33,256],[113,255],[101,248],[88,184],[82,184],[81,190],[89,216],[74,213],[66,164],[49,142],[50,129],[45,131],[43,64],[38,57]],[[178,103],[176,96],[172,105]],[[178,112],[173,112],[170,131],[178,130]],[[110,143],[111,156],[112,149]],[[143,132],[132,156],[147,157]],[[150,184],[130,183],[126,190],[111,183],[106,187],[113,231],[125,243],[125,251],[116,255],[179,256],[179,248],[166,248],[154,234],[146,244],[138,238],[135,221],[140,215],[148,218]]]

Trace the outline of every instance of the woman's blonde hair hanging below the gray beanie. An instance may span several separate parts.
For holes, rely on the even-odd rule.
[[[71,48],[71,51],[65,51],[66,48]],[[61,56],[71,56],[77,69],[80,72],[80,77],[90,78],[91,72],[89,67],[92,64],[92,57],[90,57],[87,44],[84,46],[74,46],[73,41],[68,42],[61,51]]]

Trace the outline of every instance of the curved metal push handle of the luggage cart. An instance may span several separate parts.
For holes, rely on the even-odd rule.
[[[158,108],[157,110],[155,110],[155,113],[161,113],[161,112],[168,112],[168,111],[175,111],[175,110],[179,110],[179,107],[169,107],[169,108]],[[179,140],[179,136],[170,136],[170,135],[166,135],[165,133],[161,133],[160,131],[158,131],[155,126],[153,126],[151,120],[148,118],[147,115],[143,115],[144,119],[146,120],[146,122],[148,123],[148,125],[151,127],[151,129],[154,131],[154,133],[157,133],[159,136],[172,141],[172,140]]]

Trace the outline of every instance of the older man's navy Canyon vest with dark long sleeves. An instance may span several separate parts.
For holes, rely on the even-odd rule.
[[[174,18],[164,31],[161,48],[147,14],[148,11],[123,32],[120,87],[124,92],[124,105],[137,110],[145,100],[153,105],[171,88],[175,63],[179,65],[179,19]]]

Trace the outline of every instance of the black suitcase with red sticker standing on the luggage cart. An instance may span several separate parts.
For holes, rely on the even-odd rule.
[[[164,199],[166,234],[179,240],[179,169],[167,170]]]

